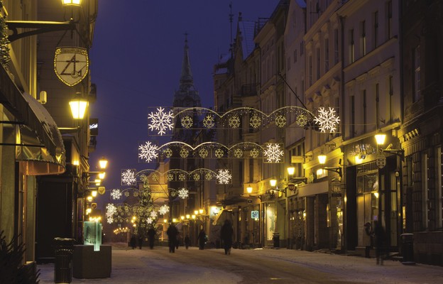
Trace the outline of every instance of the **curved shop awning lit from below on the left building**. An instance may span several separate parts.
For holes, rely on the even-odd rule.
[[[49,112],[31,95],[22,93],[0,67],[0,102],[21,124],[16,131],[16,159],[26,161],[28,175],[65,171],[65,146]]]

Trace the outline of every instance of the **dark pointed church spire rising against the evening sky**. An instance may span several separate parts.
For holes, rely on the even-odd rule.
[[[187,45],[187,35],[185,33],[185,48],[182,61],[182,74],[180,76],[180,87],[175,91],[173,107],[201,107],[198,91],[194,87],[192,77],[189,46]]]

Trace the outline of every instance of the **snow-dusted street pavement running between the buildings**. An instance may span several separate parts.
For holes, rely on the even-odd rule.
[[[97,263],[99,265],[99,263]],[[54,283],[53,264],[38,266],[40,283]],[[443,283],[443,268],[405,266],[373,258],[287,249],[199,251],[180,247],[142,250],[113,247],[111,278],[76,279],[72,283]]]

